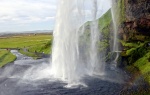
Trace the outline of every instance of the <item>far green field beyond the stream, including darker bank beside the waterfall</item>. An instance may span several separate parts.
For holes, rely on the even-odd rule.
[[[52,35],[19,35],[0,38],[0,48],[26,48],[30,52],[51,53]]]

